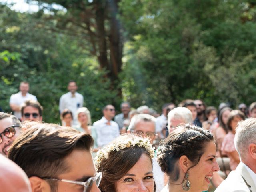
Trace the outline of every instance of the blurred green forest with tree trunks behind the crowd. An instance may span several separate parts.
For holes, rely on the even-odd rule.
[[[76,80],[95,121],[109,103],[161,112],[166,102],[250,104],[256,95],[254,0],[40,0],[38,12],[0,2],[0,107],[20,81],[60,122]],[[56,6],[59,5],[59,6]],[[57,8],[56,8],[57,7]]]

